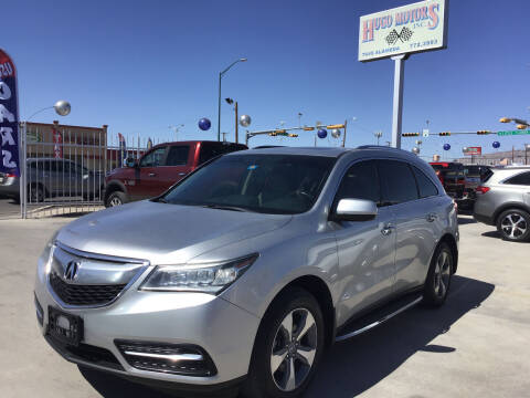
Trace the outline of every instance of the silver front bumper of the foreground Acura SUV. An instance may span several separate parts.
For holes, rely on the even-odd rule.
[[[99,308],[62,308],[50,293],[46,260],[39,259],[35,298],[42,312],[41,333],[65,359],[146,381],[169,381],[204,388],[225,385],[248,371],[259,318],[245,310],[203,293],[138,291],[144,274],[113,304]],[[108,350],[117,364],[76,355],[46,335],[49,306],[81,316],[84,324],[82,347]],[[116,341],[156,342],[201,347],[216,368],[209,377],[142,370],[128,364]],[[73,354],[74,353],[74,354]]]

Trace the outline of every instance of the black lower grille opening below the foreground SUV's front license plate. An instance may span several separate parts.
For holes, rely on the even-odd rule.
[[[45,338],[47,343],[67,360],[74,363],[82,360],[110,369],[124,370],[124,367],[119,364],[118,359],[108,349],[83,343],[78,346],[67,345],[59,342],[49,334],[45,335]]]

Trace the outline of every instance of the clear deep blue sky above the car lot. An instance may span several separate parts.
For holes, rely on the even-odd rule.
[[[18,69],[20,116],[67,100],[61,123],[107,124],[118,133],[171,139],[216,139],[219,72],[222,97],[239,102],[251,130],[348,119],[347,146],[391,139],[393,61],[358,61],[359,18],[403,0],[10,1],[2,7],[0,46]],[[504,130],[502,116],[530,118],[528,0],[451,0],[448,45],[405,62],[403,132]],[[234,139],[233,107],[222,103],[221,130]],[[60,116],[46,111],[32,122]],[[201,132],[208,117],[212,128]],[[243,128],[240,128],[242,132]],[[314,145],[255,137],[250,146]],[[241,139],[241,135],[240,135]],[[403,138],[410,149],[415,138]],[[530,136],[422,138],[422,155],[462,156],[521,148]],[[445,143],[449,151],[443,150]],[[319,139],[319,146],[338,140]]]

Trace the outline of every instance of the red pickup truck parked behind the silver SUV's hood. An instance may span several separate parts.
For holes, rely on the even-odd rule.
[[[219,142],[177,142],[160,144],[138,161],[127,160],[127,167],[114,169],[106,177],[106,207],[159,196],[211,158],[234,150],[243,144]]]

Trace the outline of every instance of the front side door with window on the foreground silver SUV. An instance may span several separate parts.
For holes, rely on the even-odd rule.
[[[377,161],[359,161],[343,176],[333,206],[343,198],[380,203],[380,197]],[[342,221],[335,226],[340,279],[343,281],[339,323],[391,294],[395,255],[393,223],[391,209],[380,207],[373,220]]]

